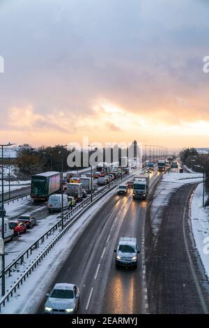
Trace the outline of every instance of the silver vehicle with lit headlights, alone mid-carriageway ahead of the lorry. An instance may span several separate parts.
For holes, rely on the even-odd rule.
[[[114,252],[116,253],[116,267],[137,268],[139,254],[137,238],[121,237]]]

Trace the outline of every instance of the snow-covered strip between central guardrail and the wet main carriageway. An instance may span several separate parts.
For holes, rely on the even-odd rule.
[[[58,246],[55,246],[49,252],[44,261],[33,271],[33,274],[26,279],[26,282],[17,290],[15,296],[6,302],[6,306],[1,309],[1,313],[36,313],[43,295],[45,295],[49,286],[54,281],[54,276],[58,273],[60,267],[65,262],[66,258],[75,244],[75,241],[84,232],[88,223],[93,216],[100,211],[100,207],[104,202],[109,200],[116,193],[115,190],[107,195],[104,195],[101,200],[95,203],[93,207],[88,209],[84,215],[68,230],[59,241]],[[39,252],[40,253],[40,248]],[[38,288],[37,288],[38,287]],[[40,292],[42,291],[42,292]]]

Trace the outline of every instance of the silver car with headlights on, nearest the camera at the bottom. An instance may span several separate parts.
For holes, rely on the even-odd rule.
[[[74,314],[79,307],[79,289],[72,283],[56,283],[47,297],[45,303],[47,314]]]

